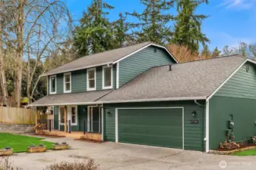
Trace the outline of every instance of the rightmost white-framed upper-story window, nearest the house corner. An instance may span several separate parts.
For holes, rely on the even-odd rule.
[[[112,88],[113,72],[112,67],[103,66],[103,89]]]

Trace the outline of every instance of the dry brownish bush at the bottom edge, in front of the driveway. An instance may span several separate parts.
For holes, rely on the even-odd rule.
[[[82,162],[61,162],[49,165],[48,170],[99,170],[98,165],[94,163],[93,159],[84,160]]]

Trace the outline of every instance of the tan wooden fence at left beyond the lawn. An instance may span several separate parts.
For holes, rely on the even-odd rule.
[[[36,113],[33,109],[17,107],[0,107],[0,122],[9,124],[36,124]]]

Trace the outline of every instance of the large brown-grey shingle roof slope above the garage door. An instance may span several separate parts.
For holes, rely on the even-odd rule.
[[[206,99],[245,61],[234,55],[188,63],[155,66],[137,76],[121,88],[97,100],[119,103],[122,101],[152,99]]]

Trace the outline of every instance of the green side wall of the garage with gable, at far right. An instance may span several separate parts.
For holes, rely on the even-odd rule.
[[[248,66],[249,70],[246,70]],[[227,123],[233,116],[234,141],[255,135],[256,69],[245,63],[210,99],[210,149],[226,140]]]

